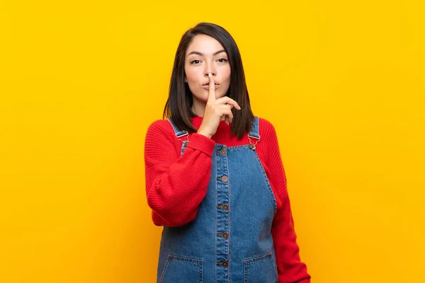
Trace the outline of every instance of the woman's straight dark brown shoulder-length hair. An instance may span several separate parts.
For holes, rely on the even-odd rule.
[[[198,23],[195,27],[187,30],[181,37],[176,57],[174,58],[169,97],[166,100],[162,118],[170,117],[180,130],[185,130],[189,133],[197,132],[191,121],[191,117],[196,116],[196,114],[191,110],[193,94],[189,89],[188,83],[184,81],[186,75],[184,67],[188,46],[191,44],[193,37],[199,34],[215,38],[227,53],[230,64],[230,85],[225,96],[235,100],[242,108],[241,110],[232,108],[231,136],[237,135],[237,138],[241,139],[244,132],[251,131],[251,122],[254,120],[254,114],[249,103],[248,89],[246,88],[242,58],[232,35],[220,25],[213,23]]]

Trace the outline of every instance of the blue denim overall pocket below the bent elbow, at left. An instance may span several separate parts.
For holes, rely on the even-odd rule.
[[[169,255],[159,283],[202,283],[202,260]]]

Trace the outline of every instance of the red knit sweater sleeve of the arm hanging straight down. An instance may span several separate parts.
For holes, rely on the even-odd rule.
[[[279,283],[310,283],[310,275],[307,273],[307,265],[301,262],[294,229],[293,215],[290,209],[290,200],[286,187],[285,171],[283,169],[282,159],[276,130],[270,122],[267,123],[269,130],[268,154],[266,166],[269,171],[269,180],[277,192],[277,197],[281,202],[276,216],[273,219],[271,233],[275,246],[276,261],[278,266]]]

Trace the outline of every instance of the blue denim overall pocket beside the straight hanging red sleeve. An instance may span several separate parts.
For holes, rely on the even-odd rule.
[[[276,282],[278,282],[278,275],[271,253],[244,260],[244,283]]]

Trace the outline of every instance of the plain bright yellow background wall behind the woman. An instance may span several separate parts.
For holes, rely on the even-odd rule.
[[[231,33],[312,282],[425,282],[424,1],[0,1],[0,282],[154,282],[147,127]],[[190,178],[190,176],[188,176]]]

